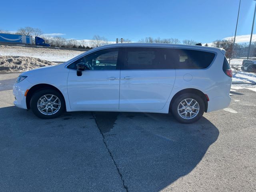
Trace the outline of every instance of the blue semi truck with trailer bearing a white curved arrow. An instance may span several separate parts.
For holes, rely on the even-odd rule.
[[[0,33],[0,42],[11,43],[11,44],[28,44],[28,45],[33,44],[31,35],[17,35],[17,34],[6,34],[6,33]],[[50,46],[50,44],[45,43],[45,40],[40,37],[35,37],[35,43],[36,45]]]

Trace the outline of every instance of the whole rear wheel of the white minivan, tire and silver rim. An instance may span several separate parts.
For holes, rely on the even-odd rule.
[[[186,93],[172,102],[172,114],[181,123],[190,124],[198,121],[204,114],[204,101],[196,94]]]

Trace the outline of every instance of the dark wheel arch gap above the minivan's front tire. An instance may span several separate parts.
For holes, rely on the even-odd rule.
[[[27,109],[30,109],[30,100],[33,96],[33,94],[38,91],[38,90],[44,90],[44,89],[53,89],[53,90],[56,90],[58,91],[62,97],[64,98],[62,92],[56,88],[55,86],[53,85],[50,85],[50,84],[36,84],[34,86],[32,86],[29,90],[28,90],[28,93],[26,95],[26,106],[27,106]],[[66,100],[64,98],[64,101],[65,101],[65,105],[66,105]]]

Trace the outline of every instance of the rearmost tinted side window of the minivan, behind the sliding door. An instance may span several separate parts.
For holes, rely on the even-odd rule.
[[[207,68],[215,54],[199,50],[170,49],[170,56],[175,62],[176,69]]]

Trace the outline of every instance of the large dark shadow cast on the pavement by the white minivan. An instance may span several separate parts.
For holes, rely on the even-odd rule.
[[[6,190],[119,191],[113,177],[118,170],[128,191],[159,191],[190,173],[219,135],[204,117],[180,124],[168,114],[72,112],[41,120],[15,106],[0,108],[0,114]]]

